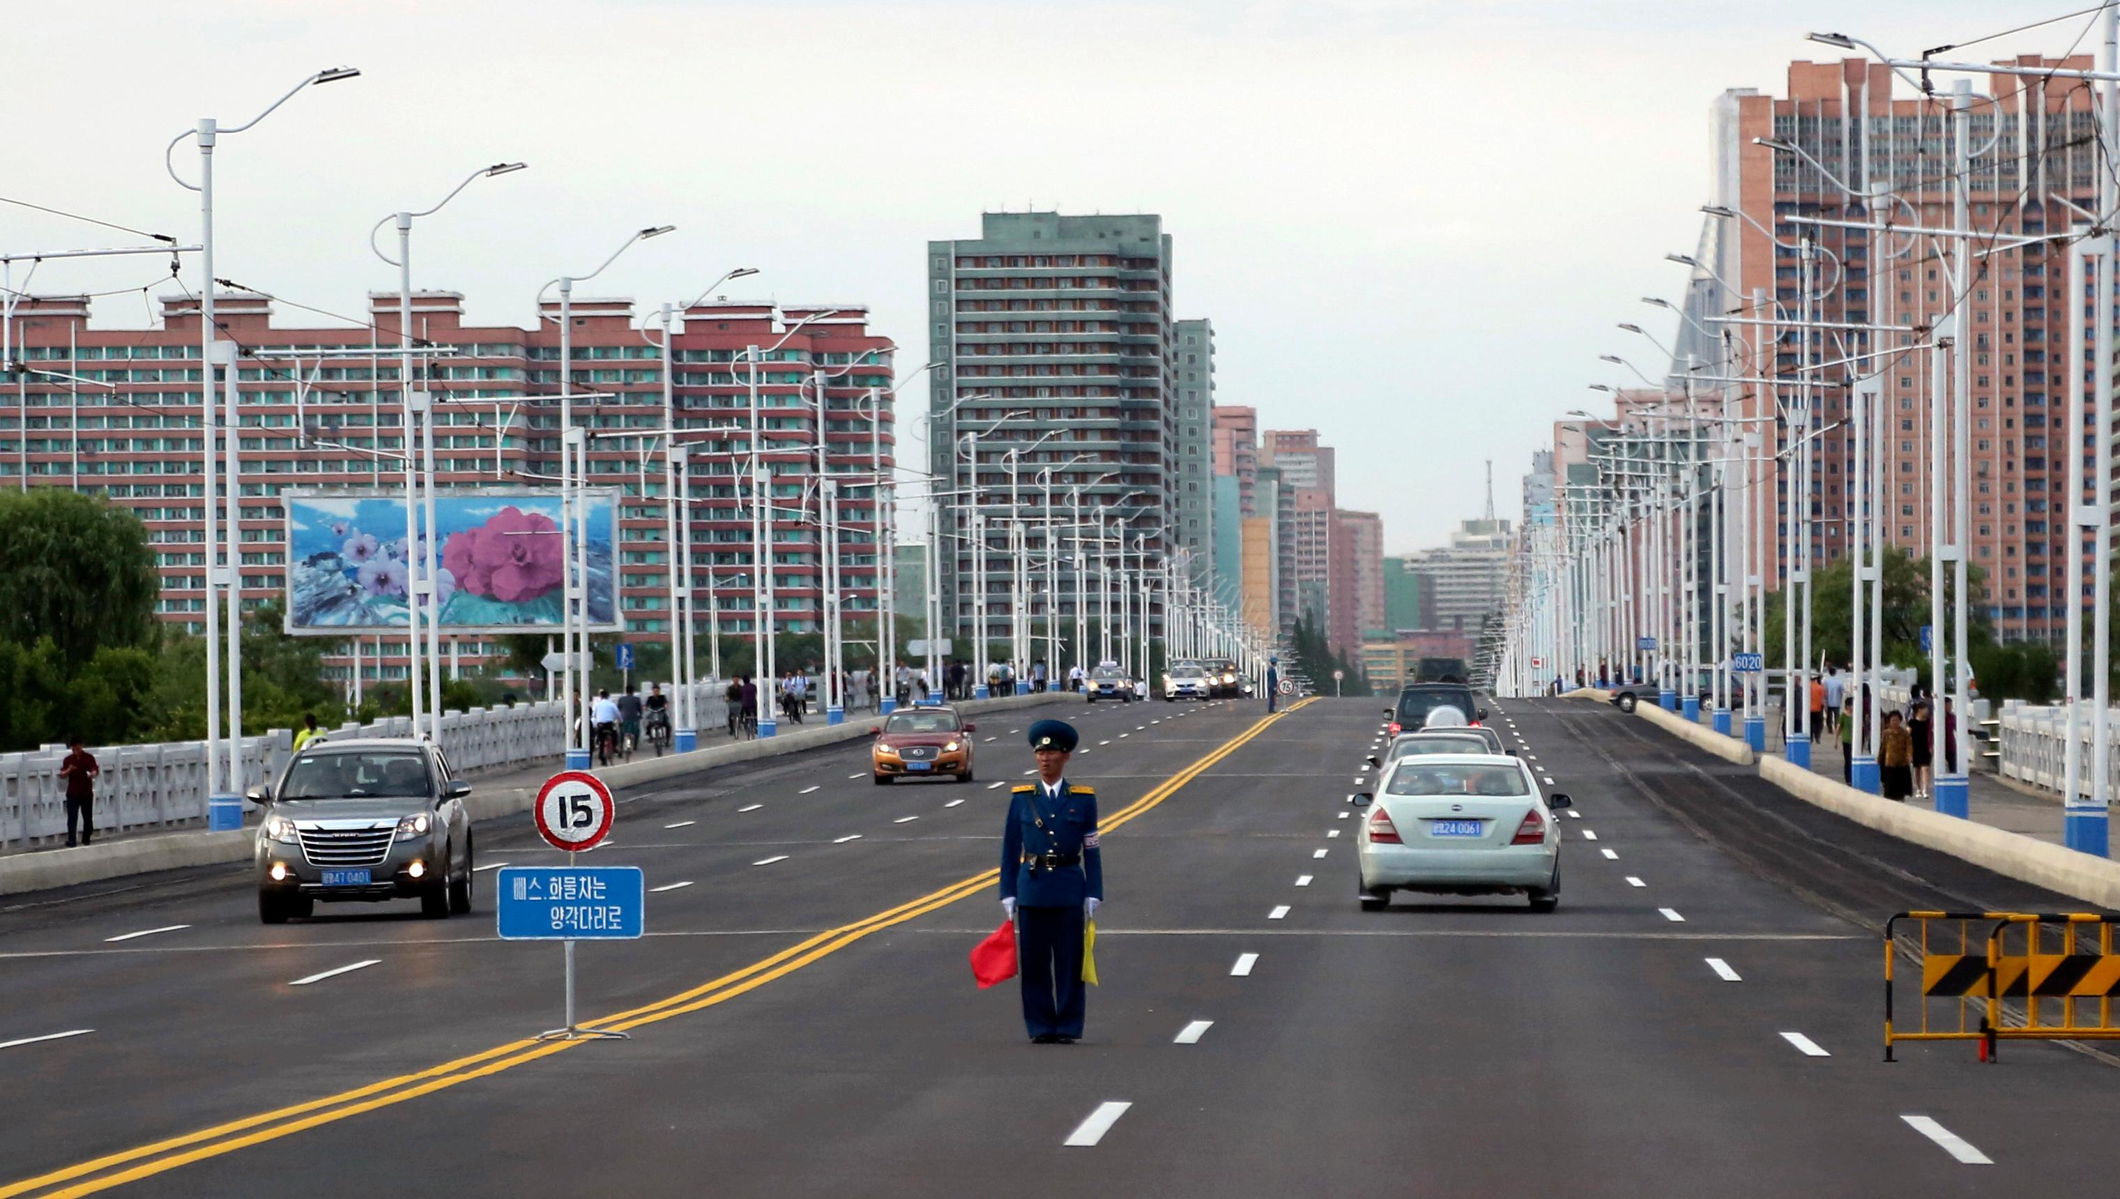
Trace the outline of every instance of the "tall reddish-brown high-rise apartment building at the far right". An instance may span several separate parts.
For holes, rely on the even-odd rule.
[[[2069,59],[2020,57],[2014,66],[2090,68],[2088,55]],[[1715,201],[1751,220],[1721,220],[1696,254],[1713,275],[1696,271],[1690,307],[1711,314],[1747,307],[1755,297],[1781,305],[1794,320],[1800,305],[1804,256],[1815,248],[1810,278],[1815,318],[1842,328],[1815,330],[1798,345],[1794,330],[1777,345],[1781,371],[1906,350],[1876,369],[1878,394],[1891,422],[1887,443],[1887,498],[1876,530],[1887,544],[1925,555],[1929,547],[1929,356],[1912,350],[1938,320],[1957,311],[1959,345],[1972,354],[1972,538],[1969,561],[1984,583],[1980,602],[2001,638],[2063,636],[2067,600],[2065,534],[2069,500],[2067,458],[2059,449],[2095,445],[2061,430],[2065,415],[2067,343],[2071,326],[2088,322],[2082,299],[2067,297],[2067,252],[2048,244],[1991,248],[1976,261],[1972,294],[1953,297],[1950,267],[1927,248],[1902,254],[1906,235],[1885,237],[1861,229],[1802,225],[1798,216],[1876,220],[1948,229],[1953,222],[1950,93],[1895,97],[1891,68],[1851,59],[1789,64],[1787,95],[1751,89],[1724,93],[1713,108]],[[2001,237],[2067,233],[2080,210],[2097,210],[2097,123],[2090,89],[2069,78],[1995,74],[1974,83],[1980,100],[1969,114],[1972,180],[1969,218],[1976,231]],[[1851,186],[1885,184],[1893,201],[1849,199],[1815,165],[1755,140],[1802,148]],[[1755,225],[1753,225],[1755,222]],[[1766,231],[1772,231],[1768,235]],[[1717,275],[1721,282],[1717,282]],[[1724,282],[1728,288],[1724,288]],[[1906,333],[1874,337],[1863,324]],[[1760,345],[1757,328],[1743,328]],[[1681,354],[1683,354],[1681,345]],[[1847,366],[1821,366],[1825,388],[1813,413],[1823,428],[1821,483],[1800,502],[1813,513],[1813,553],[1827,561],[1847,553],[1853,439],[1840,422],[1851,417],[1853,379]],[[1785,405],[1791,390],[1781,388]],[[1745,415],[1772,413],[1774,398],[1753,390]],[[2056,430],[2061,430],[2056,434]],[[1791,436],[1800,430],[1785,430]],[[2052,443],[2050,443],[2052,439]],[[2088,455],[2090,451],[2084,449]],[[2095,472],[2092,472],[2095,475]],[[1768,506],[1766,479],[1755,494],[1760,517],[1783,532],[1777,538],[1770,585],[1787,578],[1785,521],[1791,504],[1783,491]],[[2086,542],[2088,544],[2088,542]]]

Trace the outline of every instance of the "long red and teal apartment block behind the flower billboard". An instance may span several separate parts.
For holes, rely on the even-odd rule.
[[[462,294],[416,292],[413,330],[445,350],[416,364],[435,396],[441,489],[545,487],[560,462],[560,307],[530,328],[464,324]],[[642,341],[625,299],[572,303],[575,424],[589,430],[589,485],[619,500],[619,616],[628,640],[670,636],[668,485],[661,455],[623,430],[664,428],[661,347]],[[890,341],[867,333],[861,305],[710,301],[672,339],[676,428],[691,449],[693,585],[708,589],[723,633],[755,627],[748,494],[731,464],[750,453],[748,345],[778,343],[759,364],[761,453],[776,496],[776,614],[814,631],[823,604],[816,527],[818,460],[846,475],[842,585],[848,612],[876,610],[876,464],[893,464]],[[273,324],[271,299],[216,294],[214,320],[237,343],[240,464],[235,578],[244,608],[282,600],[288,487],[401,491],[405,451],[399,379],[399,297],[369,297],[369,326]],[[787,333],[814,318],[799,333]],[[782,339],[784,337],[784,339]],[[161,570],[163,621],[204,631],[206,553],[199,422],[199,303],[161,301],[157,328],[89,324],[89,297],[32,297],[17,305],[8,345],[21,371],[0,390],[0,477],[8,485],[74,487],[129,506],[146,523]],[[324,352],[354,352],[331,356]],[[365,354],[360,354],[365,352]],[[587,394],[596,398],[587,398]],[[818,396],[823,394],[823,411]],[[880,426],[876,424],[880,415]],[[823,453],[818,447],[823,445]],[[861,479],[856,483],[856,479]],[[218,481],[227,494],[227,479]],[[704,633],[704,625],[702,625]],[[704,638],[702,638],[704,640]],[[492,642],[466,636],[464,661]],[[704,648],[702,648],[704,652]],[[365,638],[363,678],[405,678],[403,636]],[[331,659],[339,676],[350,657]]]

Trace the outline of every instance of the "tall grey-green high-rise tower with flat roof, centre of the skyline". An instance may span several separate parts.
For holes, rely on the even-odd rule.
[[[984,589],[986,636],[1007,636],[1009,523],[1024,525],[1032,559],[1068,553],[1062,523],[1075,494],[1085,515],[1109,515],[1109,553],[1124,538],[1128,553],[1162,557],[1181,494],[1170,314],[1160,216],[988,212],[979,237],[929,241],[929,360],[939,362],[929,466],[950,498],[937,572],[948,625],[971,631]],[[971,500],[990,517],[984,578],[973,574]],[[1056,593],[1026,597],[1032,625],[1075,614],[1073,572],[1058,576]],[[1151,623],[1158,612],[1160,602]]]

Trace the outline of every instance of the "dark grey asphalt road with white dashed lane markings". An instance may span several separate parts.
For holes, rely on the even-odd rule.
[[[1967,1152],[2109,1186],[2114,1059],[1880,1061],[1885,915],[2080,905],[1611,710],[1509,701],[1492,720],[1579,813],[1560,911],[1363,913],[1346,794],[1380,701],[1066,714],[1111,830],[1081,1044],[1026,1044],[1013,983],[979,991],[965,962],[1001,921],[1005,784],[1030,767],[1032,716],[1007,714],[973,786],[878,788],[856,748],[621,794],[591,860],[668,890],[647,938],[579,960],[583,1015],[625,1042],[530,1040],[560,1023],[560,947],[496,941],[483,888],[449,921],[265,928],[227,869],[4,909],[0,1199],[2014,1184]],[[481,826],[483,866],[558,858],[526,820]]]

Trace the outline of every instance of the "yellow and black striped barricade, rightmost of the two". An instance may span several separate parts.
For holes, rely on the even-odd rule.
[[[2120,955],[2105,913],[1997,917],[1986,936],[1986,1040],[2114,1040]]]

